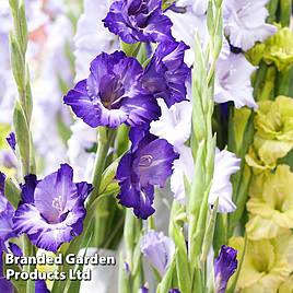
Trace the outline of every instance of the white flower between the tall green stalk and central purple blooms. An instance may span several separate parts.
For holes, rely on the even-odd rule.
[[[150,132],[167,140],[175,148],[183,145],[191,131],[192,103],[183,101],[168,108],[164,99],[157,99],[162,116],[151,122]]]

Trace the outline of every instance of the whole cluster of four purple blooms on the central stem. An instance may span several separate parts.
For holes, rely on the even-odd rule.
[[[116,174],[118,199],[138,218],[148,219],[154,212],[154,186],[164,186],[178,159],[173,145],[149,128],[161,116],[157,98],[167,107],[186,101],[190,68],[184,56],[189,47],[173,38],[161,0],[117,0],[103,22],[126,43],[159,43],[157,47],[145,69],[122,51],[102,52],[91,62],[89,78],[69,91],[65,103],[91,127],[131,127],[132,145]]]

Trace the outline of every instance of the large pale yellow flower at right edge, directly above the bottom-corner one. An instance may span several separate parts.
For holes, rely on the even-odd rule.
[[[256,176],[247,202],[250,219],[246,232],[250,239],[273,238],[293,228],[293,173],[279,165],[276,173]]]

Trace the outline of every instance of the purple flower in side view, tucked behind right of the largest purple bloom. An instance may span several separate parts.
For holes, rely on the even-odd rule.
[[[189,46],[184,42],[161,43],[148,65],[142,78],[142,84],[155,97],[164,98],[166,105],[186,99],[186,81],[190,69],[184,62],[185,50]]]

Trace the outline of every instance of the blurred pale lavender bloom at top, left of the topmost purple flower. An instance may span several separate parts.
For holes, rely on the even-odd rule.
[[[118,37],[106,30],[102,22],[110,2],[110,0],[83,0],[84,11],[78,21],[74,36],[75,82],[87,78],[89,65],[97,55],[119,47]]]

